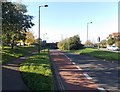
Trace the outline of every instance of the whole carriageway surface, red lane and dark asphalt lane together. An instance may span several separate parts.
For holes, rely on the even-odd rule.
[[[93,57],[56,50],[50,50],[50,55],[55,65],[55,70],[59,75],[58,80],[61,80],[61,84],[63,84],[62,86],[66,90],[75,90],[72,87],[77,85],[76,90],[84,90],[83,87],[85,87],[88,90],[94,89],[94,91],[98,91],[96,89],[102,89],[110,92],[119,92],[119,67],[117,61],[104,61]],[[65,85],[71,86],[71,89]]]

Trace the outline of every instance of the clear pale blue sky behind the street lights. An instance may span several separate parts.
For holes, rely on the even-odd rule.
[[[41,7],[41,38],[48,42],[58,42],[78,34],[82,43],[86,41],[87,22],[89,24],[89,40],[96,42],[118,31],[117,2],[22,2],[27,5],[29,15],[34,16],[35,26],[31,29],[38,37],[39,6]],[[47,33],[47,35],[45,35]]]

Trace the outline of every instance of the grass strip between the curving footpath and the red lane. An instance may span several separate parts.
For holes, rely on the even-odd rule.
[[[52,72],[48,52],[29,57],[20,66],[22,78],[32,90],[53,90]]]

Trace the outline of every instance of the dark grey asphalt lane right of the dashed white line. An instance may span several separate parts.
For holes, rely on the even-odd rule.
[[[72,54],[63,52],[68,58],[75,62],[77,66],[83,69],[91,78],[92,81],[100,87],[110,92],[119,92],[119,76],[118,61],[105,61],[98,58],[93,58],[85,55]]]

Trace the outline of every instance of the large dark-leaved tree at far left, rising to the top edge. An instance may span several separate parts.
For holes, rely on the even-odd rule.
[[[34,24],[32,23],[33,16],[25,15],[27,12],[26,6],[23,4],[3,2],[2,3],[2,34],[5,39],[5,44],[11,44],[13,48],[18,40],[25,40],[25,35],[21,31],[26,32]]]

